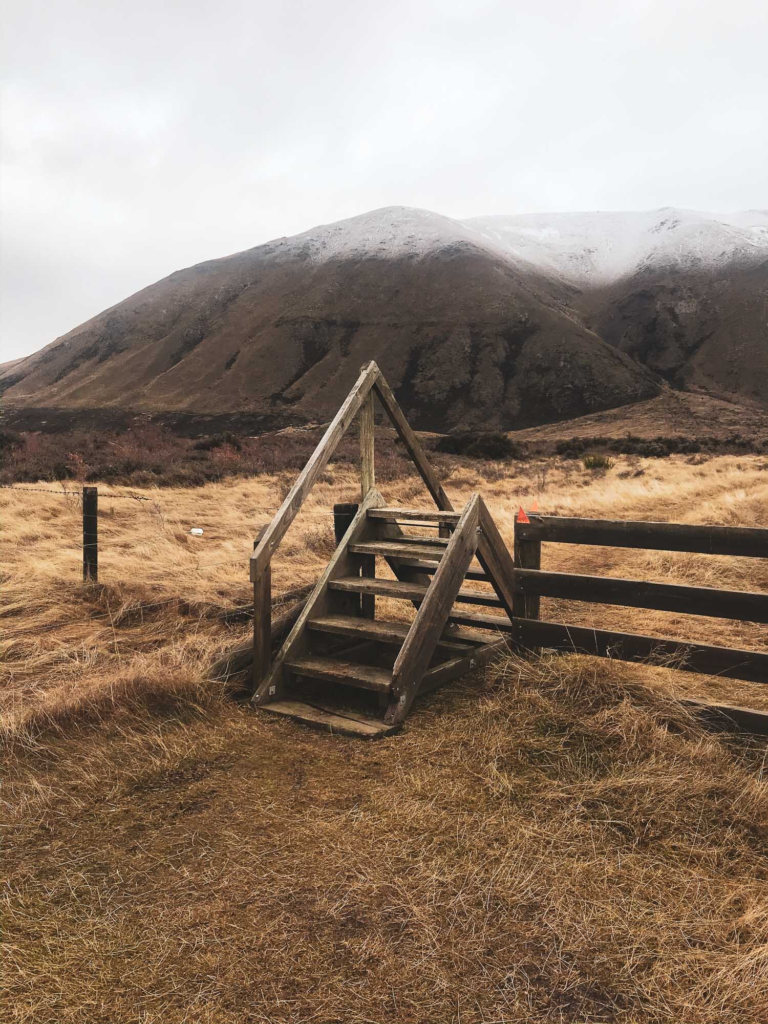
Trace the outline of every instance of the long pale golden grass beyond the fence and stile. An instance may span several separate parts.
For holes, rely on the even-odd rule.
[[[682,457],[632,460],[595,477],[559,460],[456,463],[449,467],[445,486],[457,506],[480,490],[511,547],[516,510],[534,498],[551,514],[764,523],[767,466],[761,459],[734,457],[702,465],[690,465]],[[629,467],[633,475],[626,477]],[[76,707],[89,719],[93,715],[86,715],[87,708],[110,714],[120,708],[116,694],[130,693],[132,701],[138,700],[142,685],[147,705],[164,686],[181,686],[182,679],[189,681],[199,699],[207,667],[247,638],[247,625],[224,629],[218,614],[251,599],[248,558],[253,537],[268,521],[292,478],[281,472],[194,489],[110,487],[111,493],[151,500],[101,499],[98,587],[79,582],[81,508],[76,492],[57,496],[0,489],[0,727],[5,736],[29,736],[57,717],[70,728],[78,717]],[[393,504],[427,502],[429,507],[415,475],[383,486]],[[274,559],[275,600],[317,578],[333,551],[333,504],[354,501],[357,495],[356,472],[349,466],[332,467],[316,484]],[[189,536],[193,526],[203,527],[202,538]],[[545,545],[543,564],[768,590],[768,567],[759,559]],[[382,607],[402,613],[397,602]],[[764,630],[750,624],[547,600],[543,609],[547,617],[575,625],[755,649],[767,646]],[[679,685],[692,692],[703,684],[680,677]],[[727,692],[740,696],[741,702],[745,692],[759,689],[744,690],[731,681],[706,685],[714,696]],[[760,700],[760,694],[754,699]]]

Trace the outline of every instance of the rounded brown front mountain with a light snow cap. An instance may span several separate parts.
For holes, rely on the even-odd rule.
[[[584,327],[572,290],[456,221],[401,209],[171,274],[0,378],[14,406],[327,418],[376,359],[414,422],[525,426],[658,379]]]

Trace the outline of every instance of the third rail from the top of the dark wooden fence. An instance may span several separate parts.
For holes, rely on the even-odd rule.
[[[558,650],[597,654],[624,662],[657,660],[685,672],[768,683],[768,653],[762,651],[686,643],[667,637],[616,633],[525,618],[516,618],[512,625],[513,638],[531,650],[537,647],[556,647]]]

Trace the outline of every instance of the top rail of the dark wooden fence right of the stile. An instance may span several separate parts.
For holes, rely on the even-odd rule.
[[[530,523],[518,523],[515,532],[519,532],[522,540],[555,544],[594,544],[611,548],[768,558],[768,529],[755,526],[699,526],[531,514]]]

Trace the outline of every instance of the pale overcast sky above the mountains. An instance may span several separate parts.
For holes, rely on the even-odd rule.
[[[5,0],[0,360],[403,204],[768,205],[768,0]]]

